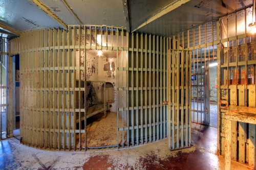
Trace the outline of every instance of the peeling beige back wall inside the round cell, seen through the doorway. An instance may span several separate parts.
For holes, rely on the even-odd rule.
[[[76,56],[79,56],[79,51],[76,53]],[[116,51],[102,51],[102,56],[99,56],[97,50],[86,51],[87,81],[109,82],[114,87],[114,103],[111,104],[112,107],[110,109],[112,112],[117,112],[117,56],[120,58],[121,53],[117,53]],[[84,52],[81,52],[80,62],[83,63],[84,57]],[[123,52],[123,61],[126,61],[124,58],[126,58],[125,52]],[[78,62],[79,58],[77,58]],[[81,72],[81,80],[84,80],[83,71]],[[122,81],[125,80],[123,79]],[[93,87],[96,91],[98,102],[103,102],[103,83],[93,83]]]

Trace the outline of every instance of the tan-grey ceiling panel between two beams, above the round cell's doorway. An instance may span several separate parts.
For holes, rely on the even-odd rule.
[[[126,28],[122,0],[68,0],[67,3],[84,25]]]

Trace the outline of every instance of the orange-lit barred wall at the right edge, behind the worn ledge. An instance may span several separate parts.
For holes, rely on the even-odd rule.
[[[228,106],[256,107],[255,35],[250,34],[252,7],[229,14],[220,23],[219,150],[225,154],[224,116]],[[231,159],[251,166],[255,161],[256,126],[232,122]]]

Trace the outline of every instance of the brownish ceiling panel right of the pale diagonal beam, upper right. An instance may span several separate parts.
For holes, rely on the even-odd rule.
[[[138,31],[171,36],[251,4],[252,0],[191,0]]]

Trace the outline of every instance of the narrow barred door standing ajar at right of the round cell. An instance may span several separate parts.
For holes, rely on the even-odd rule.
[[[168,60],[168,138],[169,149],[190,145],[190,75],[191,53],[176,47],[173,38]],[[179,40],[178,40],[179,44]]]

